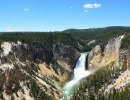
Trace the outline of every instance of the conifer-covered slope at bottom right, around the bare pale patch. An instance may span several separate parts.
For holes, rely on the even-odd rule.
[[[115,66],[99,69],[81,82],[71,100],[129,100],[130,85],[118,90],[112,88],[106,92],[108,85],[113,84],[114,80],[126,70],[126,67]]]

